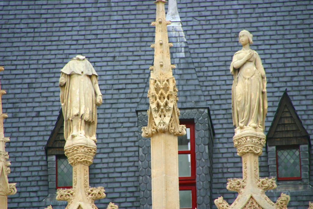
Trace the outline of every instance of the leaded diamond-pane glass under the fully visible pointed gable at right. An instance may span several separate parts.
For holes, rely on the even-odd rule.
[[[301,177],[299,148],[278,149],[277,161],[279,178]]]

